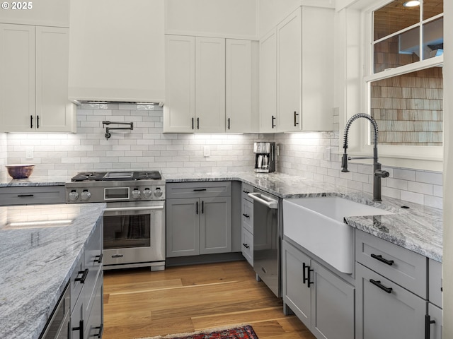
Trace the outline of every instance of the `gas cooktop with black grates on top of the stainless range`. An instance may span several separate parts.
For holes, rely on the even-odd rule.
[[[79,172],[71,178],[71,182],[122,182],[161,179],[159,171]]]

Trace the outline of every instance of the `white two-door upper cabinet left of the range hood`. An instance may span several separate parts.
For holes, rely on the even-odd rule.
[[[74,132],[67,28],[0,24],[0,130]]]

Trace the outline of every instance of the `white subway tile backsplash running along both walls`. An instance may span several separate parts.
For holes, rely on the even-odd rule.
[[[333,109],[338,129],[338,109]],[[340,133],[191,134],[162,133],[163,111],[154,105],[84,104],[77,133],[0,133],[0,174],[7,162],[25,160],[33,145],[35,174],[72,176],[83,170],[160,169],[166,173],[236,172],[253,169],[253,142],[275,141],[277,171],[372,192],[372,165],[350,162],[341,172]],[[134,130],[113,131],[106,140],[102,121],[132,121]],[[210,156],[204,156],[204,147]],[[331,160],[326,160],[330,148]],[[385,167],[383,196],[442,208],[442,173]]]

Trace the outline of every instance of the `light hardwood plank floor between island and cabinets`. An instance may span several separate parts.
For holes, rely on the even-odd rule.
[[[260,339],[314,339],[246,261],[104,272],[104,339],[248,323]]]

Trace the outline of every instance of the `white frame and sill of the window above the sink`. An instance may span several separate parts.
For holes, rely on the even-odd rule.
[[[369,103],[369,87],[370,82],[379,81],[384,78],[390,78],[393,76],[399,76],[405,73],[411,73],[414,71],[420,71],[422,69],[428,69],[434,66],[440,66],[444,62],[443,55],[439,57],[432,57],[430,59],[425,59],[422,61],[417,61],[413,64],[408,64],[404,66],[399,66],[394,69],[389,69],[379,73],[372,73],[373,69],[373,48],[372,48],[372,12],[389,4],[393,0],[383,0],[383,1],[373,1],[372,4],[367,2],[366,7],[362,8],[361,18],[360,18],[360,28],[362,32],[362,42],[361,42],[361,59],[362,59],[362,69],[361,73],[361,85],[360,89],[357,91],[357,95],[360,96],[357,104],[358,107],[361,107],[361,112],[369,114],[370,112],[370,103]],[[357,3],[356,3],[357,5]],[[440,18],[442,15],[435,16],[429,20],[435,20],[435,18]],[[423,20],[426,23],[427,20]],[[416,27],[419,23],[411,26]],[[421,31],[420,31],[421,32]],[[422,34],[420,34],[420,40],[423,39]],[[421,41],[420,41],[421,44]],[[347,106],[349,106],[347,104]],[[355,106],[355,105],[352,105]],[[346,112],[345,121],[349,119],[353,114],[358,112]],[[371,129],[369,128],[369,121],[365,119],[359,124],[354,122],[351,126],[350,134],[356,133],[355,138],[350,138],[350,143],[348,145],[348,153],[350,155],[371,155],[372,154],[372,135]],[[341,130],[340,130],[341,132]],[[340,145],[342,148],[342,145]],[[382,162],[382,165],[394,166],[394,167],[406,167],[414,169],[425,169],[441,172],[443,169],[443,146],[411,146],[411,145],[379,145],[379,162]],[[368,163],[368,161],[364,162]]]

